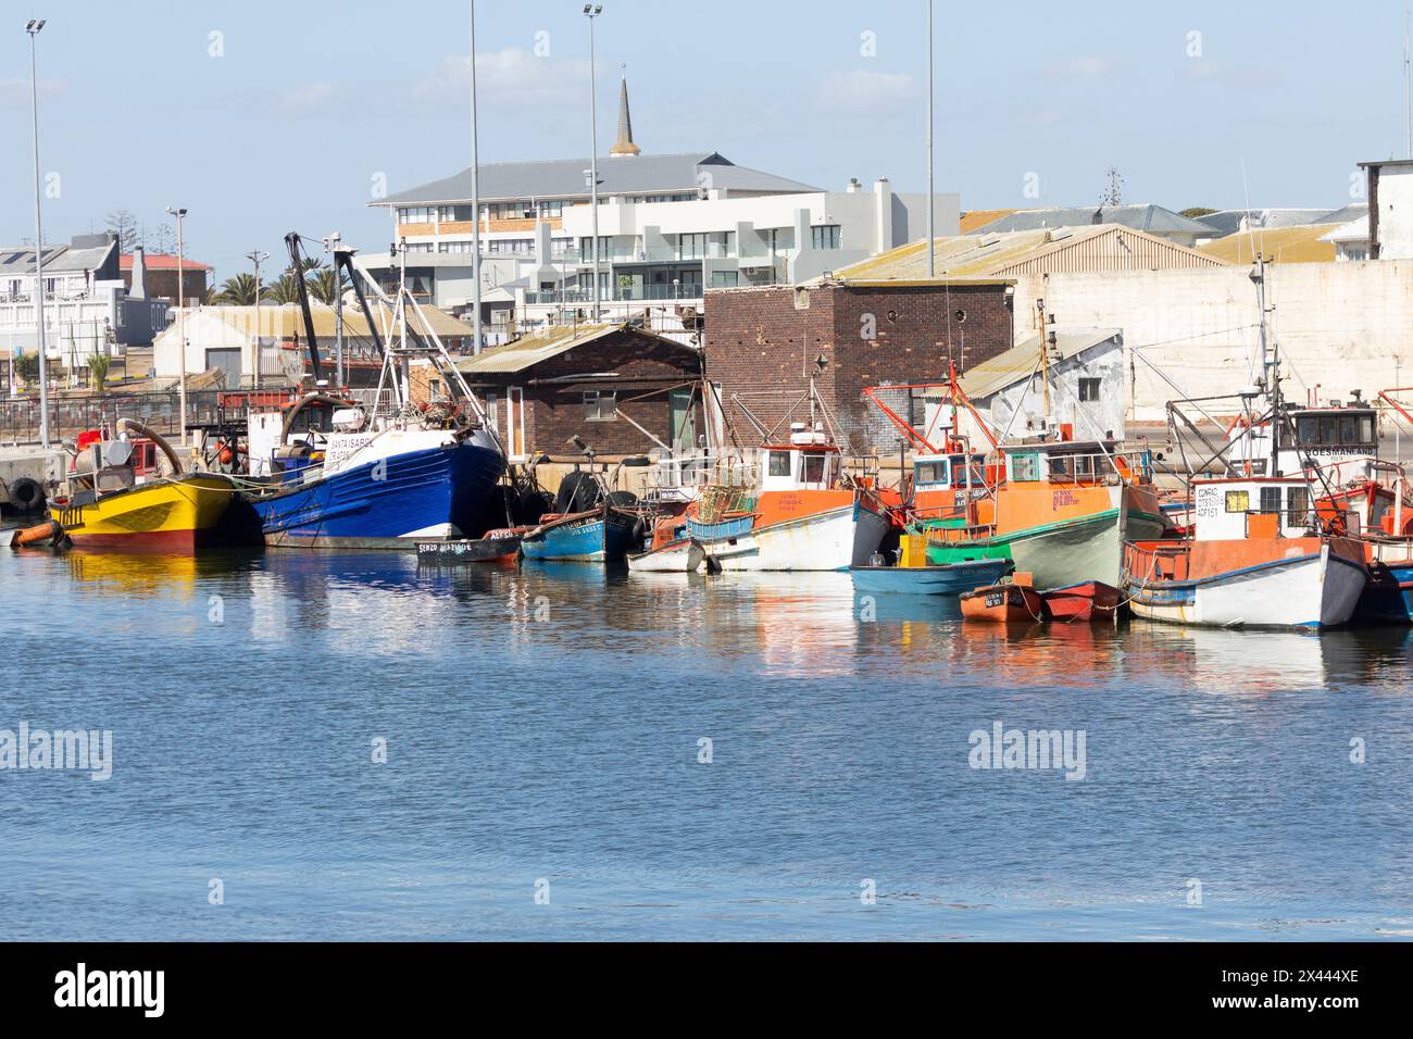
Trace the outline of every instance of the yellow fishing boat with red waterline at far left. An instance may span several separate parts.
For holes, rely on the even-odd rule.
[[[102,431],[81,435],[66,491],[49,500],[49,519],[75,548],[191,553],[213,544],[235,482],[184,472],[171,445],[143,423],[122,418],[117,428],[113,440]],[[171,475],[158,474],[155,451],[167,455]]]

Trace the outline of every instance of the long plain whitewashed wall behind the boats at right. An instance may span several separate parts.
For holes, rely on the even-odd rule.
[[[1400,382],[1413,385],[1413,260],[1266,270],[1269,324],[1287,362],[1287,397],[1304,400],[1317,383],[1321,399],[1344,400],[1351,389],[1372,397]],[[1235,393],[1251,383],[1259,315],[1249,273],[1232,266],[1022,277],[1016,339],[1034,332],[1034,301],[1041,295],[1061,328],[1122,329],[1130,418],[1161,421],[1169,400]]]

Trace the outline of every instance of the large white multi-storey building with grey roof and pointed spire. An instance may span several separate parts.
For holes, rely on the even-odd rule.
[[[701,310],[706,288],[793,284],[926,235],[927,195],[887,178],[825,191],[719,153],[644,155],[633,141],[627,86],[619,136],[596,163],[599,303],[612,319],[644,310]],[[512,329],[588,317],[593,303],[589,160],[489,163],[479,170],[482,304],[489,342]],[[393,284],[465,314],[475,288],[471,171],[374,202],[403,257],[363,256]],[[937,235],[959,230],[958,196],[934,195]]]

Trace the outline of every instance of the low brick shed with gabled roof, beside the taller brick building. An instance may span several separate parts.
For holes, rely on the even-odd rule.
[[[574,461],[578,448],[567,442],[574,435],[602,457],[647,454],[656,444],[633,423],[664,444],[690,445],[705,431],[694,392],[701,351],[632,325],[551,328],[456,368],[486,403],[512,458]],[[442,390],[428,389],[428,396]]]

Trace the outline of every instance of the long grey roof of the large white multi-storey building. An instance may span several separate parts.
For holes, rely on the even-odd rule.
[[[588,198],[584,158],[554,158],[537,163],[483,163],[478,192],[482,202],[517,198]],[[750,170],[722,158],[715,151],[682,151],[670,155],[605,155],[598,161],[599,198],[619,194],[695,192],[698,174],[714,188],[738,191],[805,192],[820,188],[786,177]],[[414,205],[421,202],[469,202],[471,170],[408,191],[389,195],[372,205]]]

